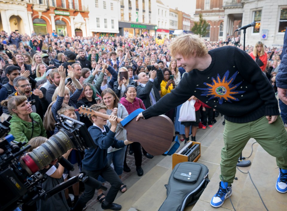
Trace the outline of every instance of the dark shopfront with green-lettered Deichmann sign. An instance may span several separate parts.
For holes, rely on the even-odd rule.
[[[155,34],[155,25],[119,22],[119,35],[126,37],[140,36],[141,34]]]

